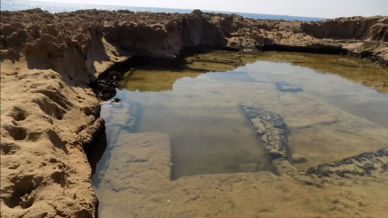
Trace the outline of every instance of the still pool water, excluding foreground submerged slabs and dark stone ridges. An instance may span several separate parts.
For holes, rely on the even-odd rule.
[[[124,167],[114,162],[115,142],[132,132],[169,136],[172,180],[215,173],[275,173],[239,104],[283,118],[291,154],[307,160],[294,164],[299,170],[376,151],[388,146],[387,92],[386,68],[338,55],[215,51],[188,57],[178,68],[130,69],[117,90],[119,105],[102,107],[109,146],[94,177],[97,195],[109,192],[110,186],[101,184],[114,189],[114,179],[104,179],[104,173]],[[133,102],[140,104],[136,125],[132,122],[136,115],[128,113]],[[130,129],[122,122],[129,116]],[[126,143],[118,146],[122,149],[131,142]],[[107,208],[101,201],[103,214]]]

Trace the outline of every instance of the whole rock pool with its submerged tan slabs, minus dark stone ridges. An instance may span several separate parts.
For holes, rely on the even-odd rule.
[[[295,167],[306,170],[388,146],[387,82],[387,69],[373,63],[287,52],[216,51],[187,57],[175,69],[131,69],[116,95],[119,106],[101,111],[110,152],[109,164],[99,168],[99,214],[267,217],[268,208],[281,211],[286,202],[287,210],[306,205],[298,201],[305,197],[326,208],[314,199],[332,192],[307,190],[271,173],[260,140],[237,106],[281,116],[291,154],[306,160]],[[373,187],[386,190],[381,186]],[[279,204],[279,196],[287,199]],[[328,210],[310,214],[322,211]]]

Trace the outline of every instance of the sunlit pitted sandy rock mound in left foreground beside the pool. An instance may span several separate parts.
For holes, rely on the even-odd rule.
[[[104,128],[98,116],[91,89],[66,84],[50,69],[2,62],[2,215],[95,215],[98,201],[83,151],[93,145],[83,135]]]

